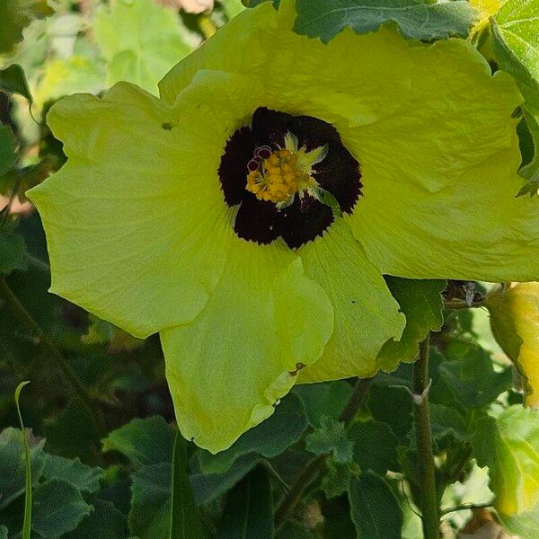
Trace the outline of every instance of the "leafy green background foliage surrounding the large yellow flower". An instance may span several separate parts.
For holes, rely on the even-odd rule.
[[[353,3],[344,0],[343,9]],[[496,67],[488,16],[501,3],[456,0],[450,17],[446,8],[431,13],[434,4],[420,6],[430,26],[419,30],[402,14],[393,22],[415,39],[468,37]],[[137,340],[47,292],[45,238],[23,193],[66,160],[45,123],[51,104],[71,93],[99,95],[119,80],[157,94],[181,57],[243,9],[240,0],[0,0],[0,539],[22,537],[24,446],[13,401],[22,380],[31,380],[20,399],[33,472],[31,537],[422,536],[410,365],[366,382],[296,386],[270,420],[225,452],[190,444],[181,468],[158,339]],[[331,39],[344,23],[321,17],[323,9],[299,2],[297,30]],[[384,22],[378,14],[346,23],[372,31]],[[503,31],[503,18],[494,31]],[[520,126],[530,181],[534,100],[526,93],[530,120]],[[431,313],[422,315],[413,308],[425,296],[411,282],[388,284],[410,309],[412,354],[441,325],[428,351],[442,536],[536,539],[539,415],[523,403],[539,379],[529,344],[539,291],[506,295],[451,282],[440,296],[438,283]],[[396,352],[383,349],[388,364]],[[192,498],[178,501],[172,485],[188,475]],[[192,517],[186,535],[170,529],[178,503]]]

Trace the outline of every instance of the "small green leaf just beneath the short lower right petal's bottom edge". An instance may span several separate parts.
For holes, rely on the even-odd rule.
[[[320,418],[329,416],[338,420],[352,393],[352,386],[344,380],[301,384],[294,387],[294,393],[301,397],[305,411],[313,427],[320,427]]]

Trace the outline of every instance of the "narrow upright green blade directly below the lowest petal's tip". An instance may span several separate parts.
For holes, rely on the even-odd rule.
[[[204,539],[204,528],[193,499],[188,470],[187,441],[176,432],[172,459],[172,509],[169,539]]]

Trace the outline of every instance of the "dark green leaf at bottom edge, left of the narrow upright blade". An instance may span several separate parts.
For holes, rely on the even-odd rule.
[[[62,539],[126,539],[126,517],[110,501],[93,500],[93,512]]]

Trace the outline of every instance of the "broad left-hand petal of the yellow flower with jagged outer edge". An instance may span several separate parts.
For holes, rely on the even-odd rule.
[[[193,119],[199,99],[195,84],[172,110],[117,84],[103,99],[58,102],[48,120],[69,159],[29,191],[48,237],[51,290],[138,337],[199,314],[234,235],[216,169],[251,103],[224,98]]]

